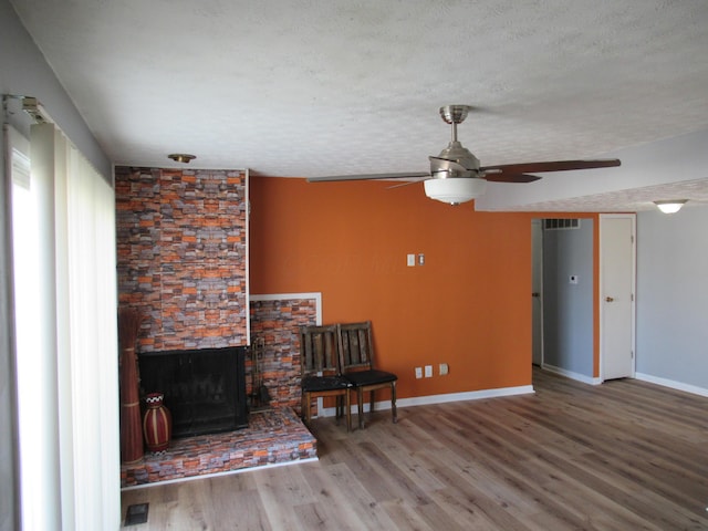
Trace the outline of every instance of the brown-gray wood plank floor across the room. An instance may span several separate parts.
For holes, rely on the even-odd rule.
[[[534,395],[400,408],[320,460],[123,492],[139,530],[706,530],[708,398],[534,371]]]

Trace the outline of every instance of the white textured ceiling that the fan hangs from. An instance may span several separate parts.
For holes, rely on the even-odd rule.
[[[449,103],[482,165],[708,131],[706,0],[11,1],[116,164],[425,171]]]

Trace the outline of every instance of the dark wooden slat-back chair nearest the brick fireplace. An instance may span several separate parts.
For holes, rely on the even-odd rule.
[[[312,418],[312,399],[336,397],[336,421],[346,414],[346,430],[352,430],[350,388],[352,384],[341,375],[336,324],[300,326],[300,358],[302,365],[302,418]],[[343,406],[345,403],[345,406]]]

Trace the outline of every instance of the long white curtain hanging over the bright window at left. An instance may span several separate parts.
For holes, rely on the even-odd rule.
[[[13,176],[23,529],[117,529],[114,192],[53,124],[32,126],[23,184]]]

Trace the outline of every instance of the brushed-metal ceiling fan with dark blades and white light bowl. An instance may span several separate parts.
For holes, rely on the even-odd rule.
[[[616,158],[594,160],[552,160],[545,163],[502,164],[481,166],[479,159],[457,139],[457,124],[461,124],[472,107],[446,105],[440,116],[452,126],[452,138],[437,157],[430,156],[430,171],[403,174],[364,174],[310,177],[309,183],[332,180],[412,179],[425,177],[425,194],[431,199],[459,205],[472,200],[487,189],[487,183],[533,183],[541,177],[533,173],[565,171],[571,169],[608,168],[620,166]]]

